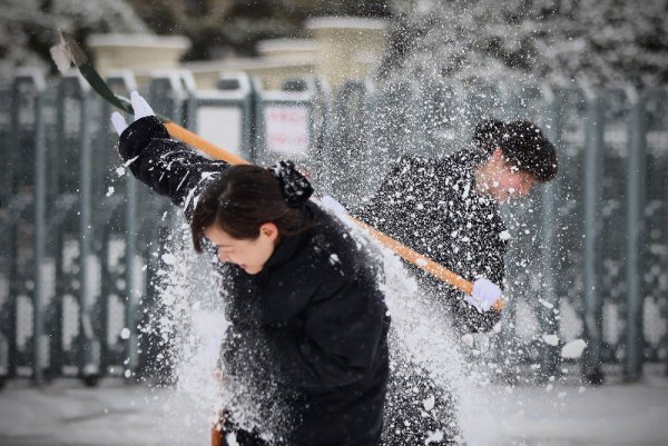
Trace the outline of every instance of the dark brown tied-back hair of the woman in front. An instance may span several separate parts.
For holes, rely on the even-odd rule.
[[[301,209],[287,206],[281,182],[266,168],[230,166],[197,201],[190,222],[193,245],[197,252],[204,250],[204,231],[212,225],[237,239],[256,239],[266,222],[276,225],[282,236],[294,235],[303,226]]]

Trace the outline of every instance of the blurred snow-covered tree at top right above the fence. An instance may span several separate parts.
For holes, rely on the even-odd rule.
[[[390,78],[668,81],[668,0],[395,0],[393,7]]]

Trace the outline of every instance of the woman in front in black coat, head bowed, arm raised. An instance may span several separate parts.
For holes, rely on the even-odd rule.
[[[186,208],[212,248],[230,326],[222,346],[225,445],[380,440],[390,319],[375,258],[308,200],[291,162],[229,166],[169,139],[136,92],[112,122],[135,177]]]

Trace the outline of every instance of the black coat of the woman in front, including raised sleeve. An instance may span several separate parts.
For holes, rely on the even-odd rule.
[[[207,178],[227,165],[168,138],[157,119],[140,119],[121,135],[119,151],[136,158],[129,167],[138,179],[188,214]],[[256,406],[257,430],[288,445],[374,445],[389,375],[379,262],[316,205],[302,212],[307,229],[282,239],[258,275],[219,265],[232,323],[224,379],[249,392],[237,399]]]

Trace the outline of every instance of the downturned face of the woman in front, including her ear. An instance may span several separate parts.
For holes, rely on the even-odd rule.
[[[238,239],[230,237],[216,225],[204,230],[205,237],[213,242],[223,262],[237,265],[249,275],[256,275],[274,254],[278,240],[278,228],[267,222],[259,227],[256,239]]]

